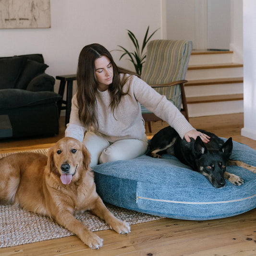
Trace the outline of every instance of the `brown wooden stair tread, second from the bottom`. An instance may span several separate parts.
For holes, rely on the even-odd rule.
[[[230,77],[230,78],[213,78],[213,79],[198,79],[190,80],[185,83],[185,86],[196,86],[196,85],[222,85],[222,84],[236,84],[243,83],[243,77]]]

